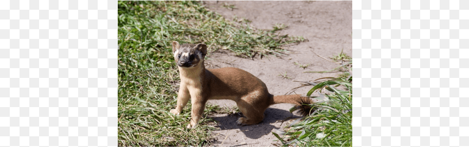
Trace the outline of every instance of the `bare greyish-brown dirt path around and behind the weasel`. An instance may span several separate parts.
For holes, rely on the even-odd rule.
[[[234,16],[251,20],[251,26],[258,29],[272,29],[276,23],[288,27],[280,35],[302,36],[308,41],[286,47],[287,56],[269,56],[262,59],[246,59],[218,51],[206,57],[206,68],[236,67],[261,79],[270,93],[284,95],[292,93],[293,88],[301,83],[293,81],[313,81],[320,77],[335,76],[337,73],[318,74],[306,71],[328,71],[339,64],[326,61],[315,55],[331,57],[343,52],[352,56],[352,1],[204,1],[210,10],[232,20]],[[234,5],[235,9],[223,7]],[[208,58],[208,59],[207,59]],[[294,62],[310,64],[306,69]],[[283,78],[279,74],[285,74]],[[305,95],[312,87],[302,87],[292,94]],[[314,94],[313,94],[314,95]],[[209,100],[210,104],[232,108],[231,100]],[[281,145],[271,133],[273,129],[285,130],[294,119],[291,114],[292,104],[272,105],[265,111],[262,123],[252,126],[238,126],[235,121],[239,115],[215,114],[212,117],[217,124],[214,146],[278,146]]]

